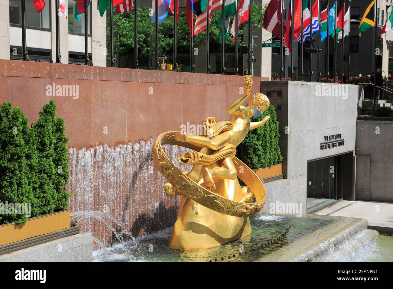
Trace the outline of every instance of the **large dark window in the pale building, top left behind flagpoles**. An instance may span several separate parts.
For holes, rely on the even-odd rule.
[[[26,27],[50,29],[50,1],[40,13],[35,10],[33,1],[26,1]],[[22,1],[9,0],[9,23],[22,25]]]

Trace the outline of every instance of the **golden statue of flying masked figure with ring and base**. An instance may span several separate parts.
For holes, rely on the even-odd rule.
[[[264,94],[256,93],[249,105],[243,106],[251,87],[251,76],[244,76],[245,94],[227,109],[230,121],[216,123],[214,117],[208,117],[202,122],[203,135],[169,131],[160,134],[154,143],[153,161],[168,180],[165,193],[182,195],[170,248],[210,248],[251,234],[249,217],[263,208],[266,189],[252,169],[236,158],[236,147],[250,129],[270,118],[250,121],[251,116],[260,116],[270,105]],[[180,171],[165,155],[163,144],[191,149],[178,158],[182,164],[193,165],[191,171]],[[246,186],[241,188],[237,177]]]

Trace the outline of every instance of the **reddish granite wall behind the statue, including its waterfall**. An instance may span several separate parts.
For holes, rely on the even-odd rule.
[[[252,93],[266,79],[253,80]],[[0,103],[20,107],[29,124],[50,99],[57,104],[70,138],[70,209],[95,248],[173,225],[180,199],[165,195],[151,146],[187,122],[229,120],[242,85],[233,75],[0,60]]]

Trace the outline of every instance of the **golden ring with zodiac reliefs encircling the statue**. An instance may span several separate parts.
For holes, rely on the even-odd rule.
[[[243,182],[252,190],[256,202],[237,202],[222,197],[221,195],[200,186],[187,177],[187,175],[180,171],[180,169],[174,166],[163,151],[162,144],[178,145],[193,150],[200,149],[192,144],[175,140],[174,136],[176,133],[178,132],[169,131],[160,134],[152,147],[152,158],[157,169],[168,180],[168,182],[173,185],[173,187],[170,186],[171,195],[174,195],[175,193],[185,195],[198,204],[201,204],[213,211],[235,217],[250,217],[262,210],[266,201],[266,188],[252,169],[248,168],[246,164],[235,156],[233,157],[233,163],[237,170],[237,176],[240,177],[240,179],[242,179]]]

